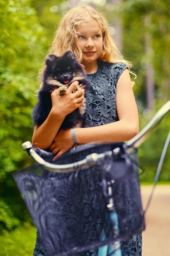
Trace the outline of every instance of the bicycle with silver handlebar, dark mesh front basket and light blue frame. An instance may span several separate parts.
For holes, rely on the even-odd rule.
[[[146,210],[143,210],[141,203],[137,148],[148,138],[150,133],[157,127],[169,111],[170,101],[157,112],[148,125],[141,130],[138,135],[127,141],[125,144],[87,144],[77,146],[73,152],[69,152],[70,155],[74,156],[82,150],[89,152],[88,150],[94,147],[98,148],[99,152],[92,154],[88,153],[84,159],[71,164],[51,164],[51,153],[38,148],[33,148],[33,145],[29,141],[22,144],[23,150],[27,151],[36,164],[13,173],[13,177],[20,192],[24,196],[26,206],[31,213],[35,226],[38,228],[42,237],[46,251],[50,256],[67,256],[98,247],[99,256],[106,255],[106,252],[108,251],[109,255],[120,255],[119,242],[122,239],[131,237],[133,234],[137,234],[145,229],[144,214]],[[159,179],[169,143],[170,133],[168,134],[162,151],[152,193]],[[100,153],[101,150],[102,153]],[[65,157],[67,155],[68,154],[66,153]],[[53,195],[52,198],[50,196],[52,190],[49,189],[49,182],[50,187],[55,186],[55,173],[75,173],[76,175],[78,171],[88,170],[89,168],[92,171],[101,174],[102,191],[107,202],[106,221],[102,235],[99,240],[91,241],[91,243],[89,243],[89,241],[88,243],[84,241],[83,245],[77,245],[75,242],[68,245],[67,248],[63,247],[58,251],[55,241],[58,239],[58,236],[60,236],[60,233],[58,228],[55,227],[55,220],[58,216],[55,215],[55,207],[53,205],[56,203],[56,200],[54,199],[55,195]],[[132,219],[129,219],[129,216],[124,209],[126,197],[124,198],[124,202],[122,201],[123,204],[121,206],[118,205],[117,200],[115,200],[115,190],[119,186],[122,186],[122,184],[131,186],[132,191],[135,193],[135,197],[131,199],[131,204],[133,205]],[[45,193],[47,189],[48,193]],[[44,193],[46,195],[45,197]],[[152,198],[152,193],[146,209]],[[48,200],[48,207],[42,211],[44,200],[45,202]],[[50,221],[49,218],[51,219]],[[132,221],[134,224],[133,227],[131,227]],[[48,230],[46,225],[48,226]]]

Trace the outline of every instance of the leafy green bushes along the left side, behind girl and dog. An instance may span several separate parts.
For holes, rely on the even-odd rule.
[[[29,218],[11,171],[29,164],[21,144],[31,140],[31,109],[45,32],[29,0],[0,2],[0,231]],[[40,40],[41,39],[41,40]],[[17,207],[18,205],[18,207]],[[22,215],[21,215],[22,212]]]

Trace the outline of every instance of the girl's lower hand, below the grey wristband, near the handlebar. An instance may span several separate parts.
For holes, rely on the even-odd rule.
[[[60,130],[54,138],[53,144],[50,146],[51,153],[57,155],[53,158],[56,161],[64,152],[73,146],[71,138],[71,129]]]

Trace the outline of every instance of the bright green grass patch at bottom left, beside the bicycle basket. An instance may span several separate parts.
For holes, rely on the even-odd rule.
[[[36,228],[27,224],[0,236],[0,255],[31,256],[35,246]]]

